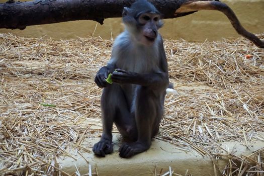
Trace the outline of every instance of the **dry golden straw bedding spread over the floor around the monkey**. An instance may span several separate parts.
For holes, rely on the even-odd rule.
[[[94,76],[108,61],[112,43],[0,34],[0,174],[60,174],[58,155],[71,156],[70,148],[91,150],[83,140],[102,132],[102,90]],[[264,141],[263,49],[243,38],[165,40],[164,46],[179,95],[166,96],[158,139],[214,161],[223,155],[224,141],[245,146]],[[261,175],[263,152],[250,157],[231,153],[221,171]]]

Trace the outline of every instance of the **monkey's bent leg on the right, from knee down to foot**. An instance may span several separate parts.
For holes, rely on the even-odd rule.
[[[138,130],[136,142],[125,143],[119,149],[119,155],[127,158],[147,150],[151,145],[151,138],[157,133],[161,119],[162,108],[160,101],[147,87],[139,86],[135,102],[135,118]]]

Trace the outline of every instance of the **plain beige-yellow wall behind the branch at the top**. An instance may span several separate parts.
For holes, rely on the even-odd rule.
[[[0,3],[6,2],[0,0]],[[241,24],[250,32],[264,32],[264,0],[223,0],[228,4]],[[228,19],[220,12],[201,11],[178,19],[164,20],[160,30],[164,38],[188,41],[221,40],[222,37],[237,37]],[[104,39],[116,37],[123,31],[121,19],[106,19],[104,25],[93,21],[73,21],[58,24],[29,26],[25,30],[0,29],[0,33],[13,33],[24,37],[52,37],[70,39],[79,37],[100,36]]]

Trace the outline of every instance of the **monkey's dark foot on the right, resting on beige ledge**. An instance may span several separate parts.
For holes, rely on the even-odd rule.
[[[149,145],[141,142],[124,143],[119,148],[119,156],[122,158],[131,157],[137,153],[141,153],[149,148]]]

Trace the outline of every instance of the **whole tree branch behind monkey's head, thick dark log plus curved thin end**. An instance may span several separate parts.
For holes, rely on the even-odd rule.
[[[106,18],[121,17],[123,7],[135,0],[35,0],[0,4],[0,28],[25,29],[30,25],[59,23],[75,20],[94,20],[103,24]],[[246,31],[235,13],[219,0],[151,0],[163,18],[178,18],[200,10],[224,13],[238,34],[264,48],[264,41]]]

